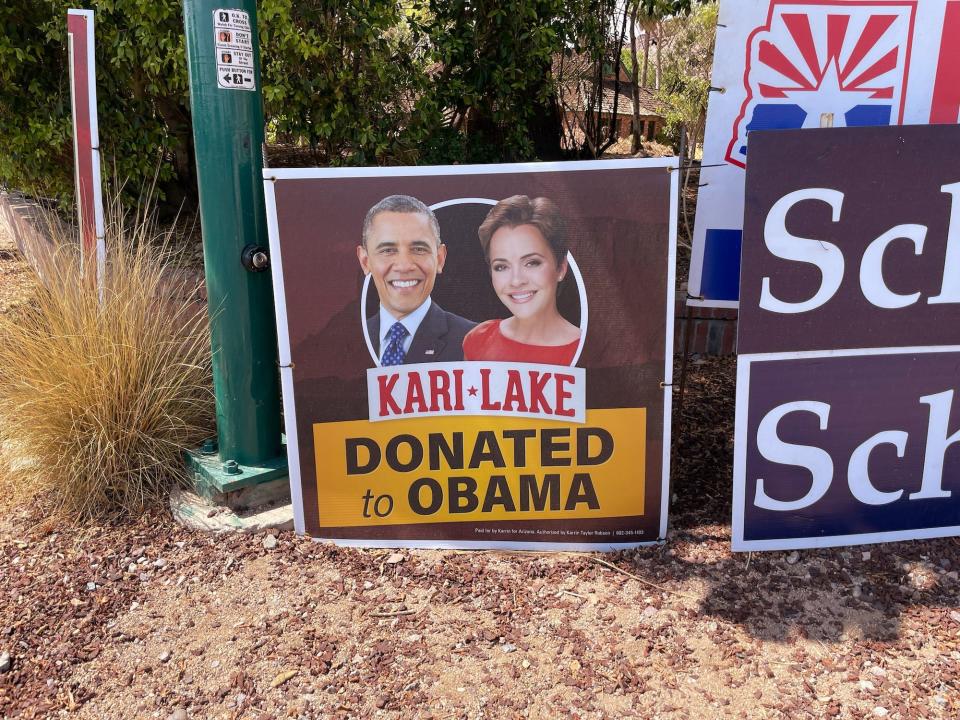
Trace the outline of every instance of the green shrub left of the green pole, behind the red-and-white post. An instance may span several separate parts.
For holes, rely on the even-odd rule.
[[[0,183],[73,202],[67,9],[96,11],[104,177],[158,186],[177,202],[192,181],[180,3],[4,0],[0,4]]]

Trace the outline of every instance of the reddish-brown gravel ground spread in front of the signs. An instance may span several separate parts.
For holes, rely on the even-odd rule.
[[[0,309],[22,277],[0,247]],[[957,718],[956,539],[733,555],[734,360],[690,365],[672,528],[612,555],[0,514],[0,717]]]

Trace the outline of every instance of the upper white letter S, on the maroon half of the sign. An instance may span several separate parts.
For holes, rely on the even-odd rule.
[[[784,195],[774,203],[763,225],[763,239],[767,249],[784,260],[796,260],[816,265],[820,269],[822,280],[820,288],[809,300],[803,302],[784,302],[770,292],[770,278],[763,278],[760,290],[760,307],[771,312],[791,314],[815,310],[823,305],[843,282],[843,252],[833,243],[824,240],[800,238],[787,232],[787,212],[798,202],[820,200],[832,209],[831,219],[840,219],[840,207],[843,205],[843,193],[827,188],[807,188]]]

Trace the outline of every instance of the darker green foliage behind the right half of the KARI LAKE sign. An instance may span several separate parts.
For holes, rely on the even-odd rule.
[[[602,54],[614,2],[428,0],[427,7],[418,27],[430,40],[436,72],[418,111],[445,115],[463,136],[439,143],[431,137],[436,161],[559,157],[554,61],[564,52]],[[442,157],[444,150],[454,154]]]

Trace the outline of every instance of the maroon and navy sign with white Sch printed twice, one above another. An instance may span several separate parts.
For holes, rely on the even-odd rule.
[[[957,143],[956,125],[751,136],[735,550],[960,533]]]

